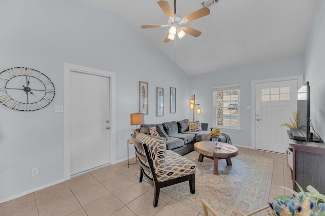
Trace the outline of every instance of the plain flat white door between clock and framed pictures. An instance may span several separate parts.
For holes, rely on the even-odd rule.
[[[71,176],[110,163],[110,78],[70,72]]]

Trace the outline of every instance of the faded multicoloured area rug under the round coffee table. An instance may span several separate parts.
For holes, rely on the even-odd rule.
[[[268,204],[272,182],[273,159],[239,154],[231,158],[233,165],[219,160],[219,175],[213,175],[213,160],[198,162],[199,153],[185,155],[197,165],[195,194],[188,182],[168,186],[165,193],[203,213],[204,199],[219,215],[245,215]]]

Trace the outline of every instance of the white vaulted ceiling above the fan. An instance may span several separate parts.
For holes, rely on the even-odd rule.
[[[158,0],[75,1],[119,15],[189,75],[303,54],[317,6],[317,0],[220,0],[210,15],[186,24],[202,31],[199,37],[165,43],[168,27],[140,27],[167,23]],[[203,1],[177,0],[177,13],[194,12]],[[168,2],[174,11],[174,0]]]

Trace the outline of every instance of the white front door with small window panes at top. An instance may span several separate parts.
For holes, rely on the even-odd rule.
[[[285,153],[287,127],[297,110],[298,80],[255,83],[255,148]]]

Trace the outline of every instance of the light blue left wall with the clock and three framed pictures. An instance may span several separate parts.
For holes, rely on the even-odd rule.
[[[126,159],[139,81],[149,83],[146,123],[189,115],[189,76],[114,14],[71,0],[2,0],[0,29],[0,71],[31,67],[56,88],[54,101],[39,111],[0,104],[0,202],[63,179],[63,114],[54,113],[54,105],[63,105],[63,62],[116,73],[117,160]],[[155,117],[156,87],[165,89],[164,117]],[[170,87],[177,89],[176,114],[169,113]],[[31,177],[34,167],[37,177]]]

